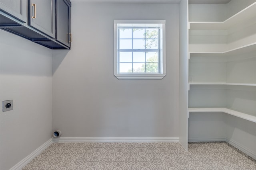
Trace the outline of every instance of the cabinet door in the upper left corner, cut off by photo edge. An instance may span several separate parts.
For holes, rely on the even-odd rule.
[[[26,22],[28,0],[0,0],[0,8],[14,18]]]

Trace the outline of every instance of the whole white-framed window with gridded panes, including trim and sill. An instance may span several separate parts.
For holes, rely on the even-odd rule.
[[[114,75],[157,80],[166,75],[165,20],[114,20]]]

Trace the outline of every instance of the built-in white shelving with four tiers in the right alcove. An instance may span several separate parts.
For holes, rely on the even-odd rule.
[[[189,21],[188,66],[189,113],[223,112],[256,123],[256,2],[224,21]],[[225,90],[234,90],[233,98],[244,92],[250,109],[194,101],[218,94],[223,97]]]

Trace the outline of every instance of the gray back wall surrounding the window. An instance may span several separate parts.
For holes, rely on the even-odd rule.
[[[118,80],[113,20],[166,20],[166,76]],[[72,49],[53,54],[53,129],[62,137],[178,137],[179,4],[72,1]]]

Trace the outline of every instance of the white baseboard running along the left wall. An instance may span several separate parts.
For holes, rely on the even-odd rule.
[[[32,159],[38,156],[44,149],[49,147],[52,144],[52,138],[46,141],[42,146],[38,149],[34,150],[31,154],[29,154],[26,158],[22,159],[18,164],[14,165],[10,170],[21,170],[26,164],[28,164]]]

